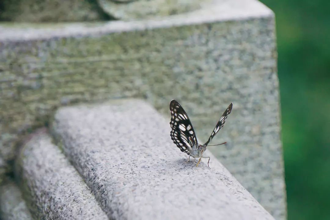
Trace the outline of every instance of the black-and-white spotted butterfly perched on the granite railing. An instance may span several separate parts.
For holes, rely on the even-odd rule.
[[[189,155],[188,160],[185,162],[190,161],[190,156],[194,158],[194,163],[196,158],[199,157],[199,161],[196,165],[201,162],[202,158],[209,158],[209,161],[207,163],[208,167],[210,162],[210,157],[203,157],[203,153],[206,150],[206,146],[210,143],[210,141],[214,138],[216,133],[223,127],[224,123],[226,122],[226,119],[228,115],[230,114],[231,110],[233,108],[233,103],[231,103],[228,108],[223,112],[222,116],[220,117],[218,123],[215,125],[215,128],[206,143],[203,145],[198,144],[196,134],[194,131],[194,128],[191,125],[191,122],[189,120],[189,117],[187,113],[183,110],[182,106],[175,101],[174,99],[170,103],[170,111],[171,111],[171,139],[173,142],[177,145],[177,147],[180,148],[182,152],[185,152]],[[226,142],[224,142],[226,143]],[[224,144],[221,143],[221,144]],[[220,144],[217,144],[220,145]],[[214,146],[214,145],[209,145]]]

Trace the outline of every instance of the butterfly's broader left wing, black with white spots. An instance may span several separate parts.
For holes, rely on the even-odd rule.
[[[171,111],[171,138],[182,152],[189,155],[189,149],[198,147],[195,131],[191,125],[187,113],[174,99],[170,103]]]

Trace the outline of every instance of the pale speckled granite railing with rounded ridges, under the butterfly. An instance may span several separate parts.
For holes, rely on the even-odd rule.
[[[168,124],[139,100],[59,109],[22,144],[4,219],[274,219],[211,153],[184,163]]]

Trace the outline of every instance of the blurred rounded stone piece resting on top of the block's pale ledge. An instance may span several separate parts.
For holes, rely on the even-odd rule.
[[[119,20],[146,19],[157,16],[177,15],[199,10],[202,8],[202,5],[212,2],[211,0],[97,1],[105,12]]]

